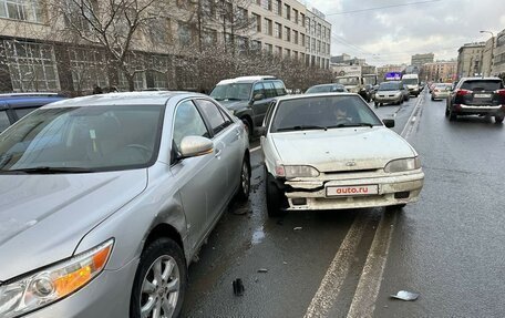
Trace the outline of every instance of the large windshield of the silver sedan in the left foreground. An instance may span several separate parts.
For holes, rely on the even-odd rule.
[[[147,166],[162,117],[154,105],[39,109],[0,135],[0,172]]]

